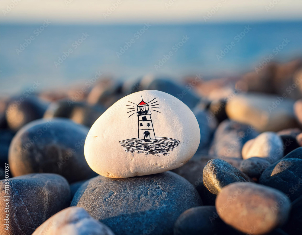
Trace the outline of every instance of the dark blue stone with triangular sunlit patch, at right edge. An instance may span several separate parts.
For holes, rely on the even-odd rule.
[[[291,201],[302,195],[302,160],[281,159],[261,174],[259,183],[284,192]]]

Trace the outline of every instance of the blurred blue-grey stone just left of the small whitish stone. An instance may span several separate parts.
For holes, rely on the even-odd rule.
[[[217,127],[209,153],[215,157],[242,158],[243,145],[257,135],[252,126],[225,120]]]

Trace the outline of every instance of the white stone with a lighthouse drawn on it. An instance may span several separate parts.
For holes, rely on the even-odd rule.
[[[146,90],[120,99],[95,121],[84,154],[98,174],[127,178],[184,165],[199,141],[198,122],[182,101],[165,92]]]

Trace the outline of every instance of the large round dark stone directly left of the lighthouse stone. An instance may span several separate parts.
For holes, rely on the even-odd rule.
[[[88,128],[66,118],[41,119],[24,126],[14,136],[8,161],[12,175],[56,173],[70,183],[95,173],[84,157]]]

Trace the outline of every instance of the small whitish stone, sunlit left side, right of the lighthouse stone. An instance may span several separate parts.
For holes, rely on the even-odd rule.
[[[283,142],[274,132],[263,132],[255,139],[247,141],[242,148],[243,159],[250,157],[270,158],[275,162],[283,157]]]

